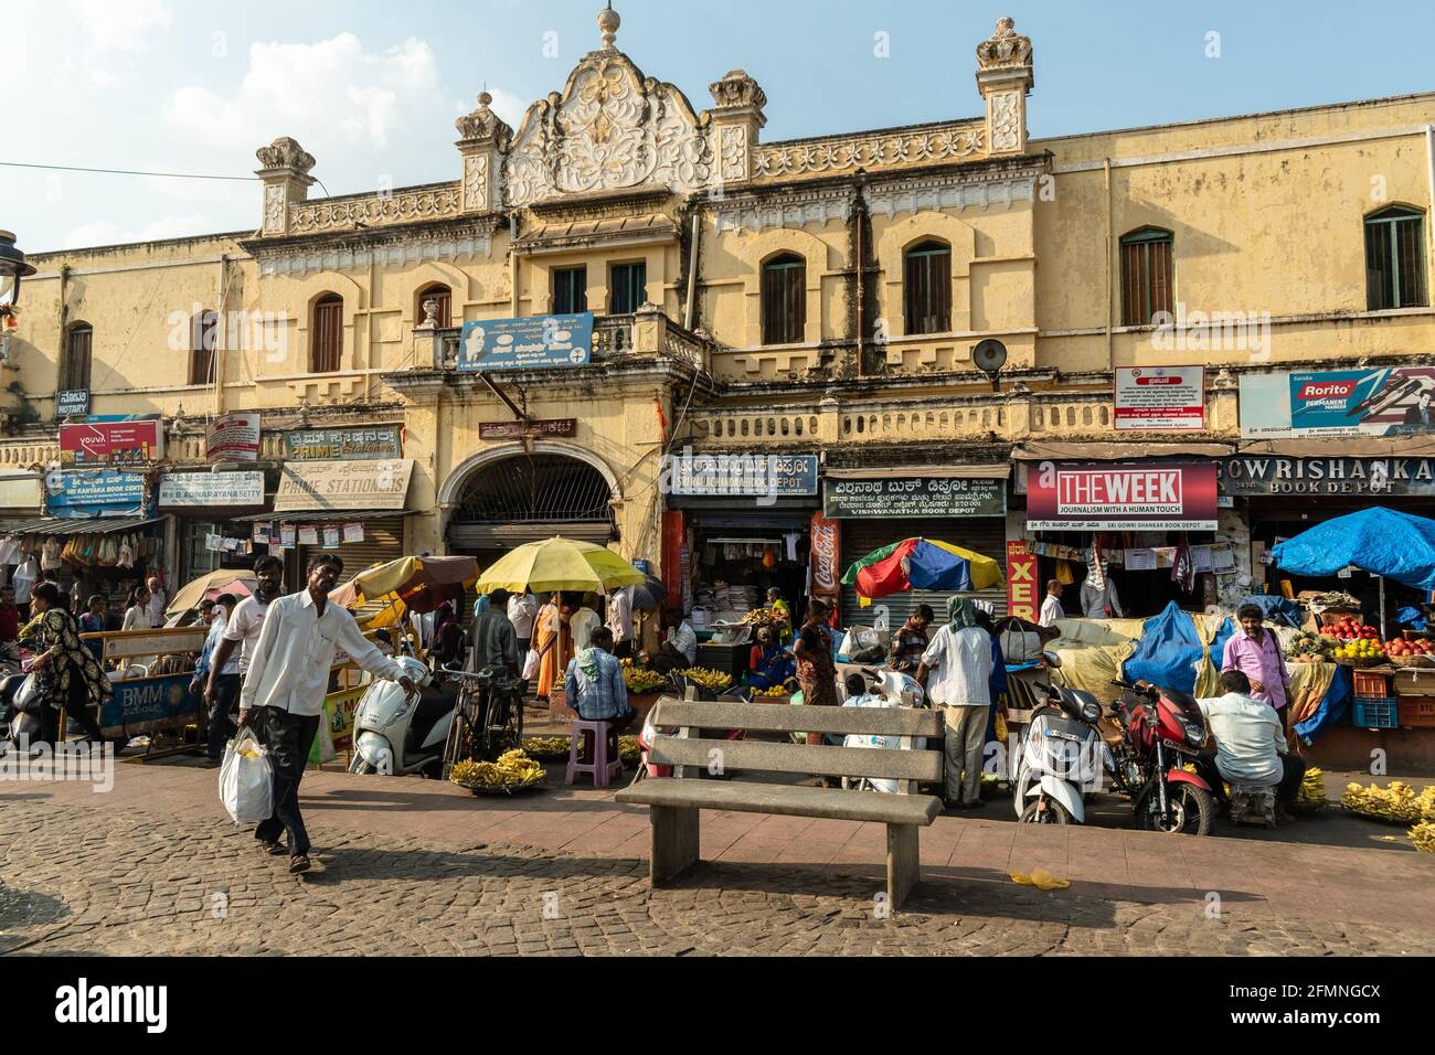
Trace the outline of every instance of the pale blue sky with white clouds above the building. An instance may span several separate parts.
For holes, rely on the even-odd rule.
[[[453,118],[486,86],[517,126],[600,44],[600,6],[4,0],[0,161],[244,178],[255,148],[291,135],[331,194],[455,179]],[[1002,14],[1033,39],[1035,136],[1435,89],[1435,4],[1402,4],[1379,29],[1336,0],[614,6],[618,47],[699,111],[726,70],[753,75],[768,141],[977,115],[973,47]],[[258,217],[253,181],[0,167],[0,227],[32,253],[247,231]]]

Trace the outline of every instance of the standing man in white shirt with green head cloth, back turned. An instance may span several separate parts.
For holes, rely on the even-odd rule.
[[[992,709],[992,636],[969,597],[947,599],[947,623],[921,653],[917,680],[946,719],[946,801],[982,808],[982,741]]]

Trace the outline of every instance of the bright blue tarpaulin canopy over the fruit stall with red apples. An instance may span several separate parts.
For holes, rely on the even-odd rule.
[[[1355,566],[1416,590],[1435,590],[1435,520],[1383,507],[1336,517],[1271,550],[1297,576],[1333,576]]]

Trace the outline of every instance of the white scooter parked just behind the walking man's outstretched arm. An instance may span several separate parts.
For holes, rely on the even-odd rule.
[[[412,656],[397,663],[420,692],[409,696],[402,685],[389,680],[369,686],[354,711],[354,758],[349,772],[383,777],[423,772],[436,778],[443,768],[443,744],[453,723],[458,692],[429,686],[428,666]]]

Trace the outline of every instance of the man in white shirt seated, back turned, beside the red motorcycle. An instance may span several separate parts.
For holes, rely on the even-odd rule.
[[[1303,759],[1286,746],[1286,728],[1270,703],[1253,699],[1251,682],[1240,670],[1221,673],[1224,696],[1198,699],[1215,739],[1215,772],[1210,762],[1198,765],[1207,782],[1221,797],[1221,782],[1276,788],[1276,817],[1292,820],[1290,807],[1306,775]]]

